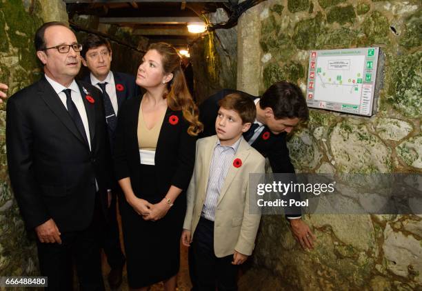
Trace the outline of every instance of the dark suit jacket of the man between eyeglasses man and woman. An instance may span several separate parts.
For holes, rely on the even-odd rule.
[[[123,90],[116,89],[117,115],[119,116],[119,111],[121,109],[121,106],[123,106],[123,103],[132,97],[139,97],[139,94],[141,94],[141,90],[139,89],[139,86],[137,86],[137,83],[135,83],[135,77],[130,74],[125,74],[122,72],[113,72],[113,77],[114,77],[114,84],[116,86],[118,85],[123,86]],[[87,83],[91,83],[90,74],[86,75],[86,77],[83,78],[83,80],[86,81]],[[92,85],[95,85],[95,84],[92,84]],[[115,132],[112,132],[112,130],[108,128],[108,134],[110,136],[110,145],[113,145]]]

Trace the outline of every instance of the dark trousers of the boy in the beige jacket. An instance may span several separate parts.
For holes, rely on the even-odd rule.
[[[192,239],[194,272],[192,281],[199,291],[237,290],[238,266],[233,255],[217,258],[214,254],[214,222],[201,217]]]

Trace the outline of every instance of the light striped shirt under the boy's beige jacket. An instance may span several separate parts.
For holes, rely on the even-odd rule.
[[[221,145],[220,140],[218,140],[215,145],[210,164],[207,192],[205,193],[205,201],[201,212],[201,217],[205,219],[214,221],[221,188],[223,188],[225,177],[232,166],[234,154],[239,148],[241,139],[243,137],[228,146]]]

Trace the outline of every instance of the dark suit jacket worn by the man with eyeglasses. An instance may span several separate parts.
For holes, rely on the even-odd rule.
[[[28,228],[52,218],[61,232],[92,221],[97,181],[103,210],[110,147],[100,92],[77,82],[88,116],[91,148],[45,77],[7,103],[6,145],[10,181]],[[88,102],[83,88],[94,103]]]

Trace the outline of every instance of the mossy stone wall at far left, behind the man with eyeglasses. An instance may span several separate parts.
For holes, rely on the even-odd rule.
[[[35,30],[46,21],[68,21],[60,0],[0,1],[0,81],[8,96],[41,76],[35,55]],[[6,104],[0,104],[0,276],[37,275],[34,241],[28,239],[13,198],[6,164]]]

